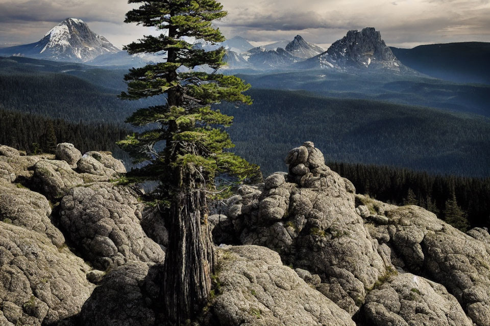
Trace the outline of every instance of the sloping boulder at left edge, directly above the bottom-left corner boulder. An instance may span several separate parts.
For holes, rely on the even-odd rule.
[[[63,234],[50,220],[51,207],[41,194],[0,180],[0,221],[46,235],[57,247]]]

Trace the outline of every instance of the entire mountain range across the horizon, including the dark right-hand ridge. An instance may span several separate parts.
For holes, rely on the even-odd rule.
[[[322,70],[331,72],[389,72],[400,75],[425,74],[457,83],[490,84],[490,43],[465,42],[421,45],[413,49],[388,47],[374,28],[349,31],[326,51],[297,35],[256,46],[235,36],[218,44],[195,43],[195,48],[227,49],[227,73],[242,71]],[[90,30],[87,23],[67,18],[38,42],[0,49],[0,56],[17,56],[60,62],[85,63],[101,67],[141,67],[165,60],[165,52],[129,55],[105,37]],[[206,70],[206,67],[198,67]]]

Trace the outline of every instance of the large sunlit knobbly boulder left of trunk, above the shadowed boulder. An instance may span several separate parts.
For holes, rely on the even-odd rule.
[[[163,261],[163,250],[141,228],[135,196],[128,187],[102,182],[72,188],[61,201],[60,226],[95,268]]]

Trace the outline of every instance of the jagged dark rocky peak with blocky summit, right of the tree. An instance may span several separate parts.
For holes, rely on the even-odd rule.
[[[348,68],[408,70],[398,61],[391,49],[375,28],[362,31],[349,31],[347,35],[334,42],[326,52],[305,62],[310,68]]]

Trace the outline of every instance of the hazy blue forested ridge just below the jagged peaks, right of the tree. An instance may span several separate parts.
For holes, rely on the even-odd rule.
[[[445,82],[423,76],[306,70],[240,75],[254,88],[307,90],[337,98],[423,105],[490,117],[490,86]]]

